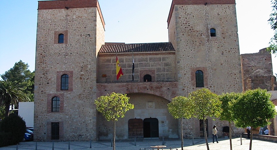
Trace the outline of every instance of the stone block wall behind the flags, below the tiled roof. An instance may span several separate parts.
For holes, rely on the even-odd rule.
[[[116,80],[116,56],[98,57],[98,83],[122,83],[132,81],[132,55],[117,55],[122,75]],[[172,54],[134,54],[134,82],[143,82],[143,76],[152,76],[152,82],[176,81],[175,55]]]

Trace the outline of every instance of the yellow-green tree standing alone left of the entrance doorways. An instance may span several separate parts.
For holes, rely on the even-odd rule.
[[[127,94],[112,92],[111,95],[100,96],[97,100],[94,100],[96,110],[102,113],[107,121],[112,120],[114,122],[113,150],[116,149],[116,121],[120,117],[123,118],[128,110],[134,109],[134,104],[128,103],[129,99]]]

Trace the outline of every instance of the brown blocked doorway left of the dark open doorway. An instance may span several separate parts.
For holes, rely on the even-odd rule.
[[[143,120],[130,119],[128,121],[129,138],[143,138]]]

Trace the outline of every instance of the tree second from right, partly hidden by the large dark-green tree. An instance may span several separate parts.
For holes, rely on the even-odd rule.
[[[230,137],[230,150],[232,150],[232,128],[231,122],[235,120],[234,112],[232,110],[232,105],[238,100],[240,93],[226,93],[219,96],[220,101],[222,101],[221,108],[222,113],[220,115],[220,120],[229,121],[229,137]]]

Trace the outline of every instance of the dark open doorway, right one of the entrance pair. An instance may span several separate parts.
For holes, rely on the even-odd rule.
[[[145,118],[143,120],[143,137],[144,138],[159,137],[159,122],[157,118]]]

